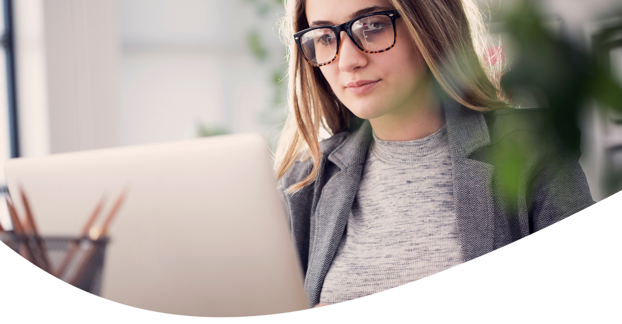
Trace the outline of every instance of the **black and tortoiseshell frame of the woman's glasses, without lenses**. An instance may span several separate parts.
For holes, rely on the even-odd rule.
[[[391,19],[391,24],[393,27],[393,42],[391,43],[391,46],[386,47],[386,48],[382,48],[381,50],[374,50],[374,51],[370,51],[367,50],[366,48],[364,48],[363,46],[361,46],[361,44],[359,42],[356,41],[355,39],[355,35],[352,33],[352,25],[357,21],[357,20],[361,20],[363,18],[366,17],[371,17],[371,16],[386,16],[389,17],[389,19]],[[395,26],[395,20],[397,18],[399,18],[399,13],[397,12],[397,10],[389,10],[389,11],[377,11],[377,12],[371,12],[369,14],[364,14],[363,16],[359,16],[356,17],[355,19],[349,20],[347,22],[345,22],[344,24],[341,25],[321,25],[321,26],[315,26],[315,27],[311,27],[305,30],[301,30],[300,32],[297,32],[294,34],[294,41],[296,43],[296,45],[298,45],[298,48],[300,50],[300,52],[302,53],[302,55],[304,56],[305,60],[307,60],[309,62],[310,65],[312,66],[325,66],[328,65],[330,63],[332,63],[333,61],[337,60],[337,58],[339,57],[339,50],[341,48],[341,32],[346,32],[346,34],[348,35],[348,37],[350,37],[350,40],[356,45],[356,47],[365,52],[365,53],[382,53],[382,52],[386,52],[388,50],[390,50],[392,47],[395,46],[395,42],[396,42],[396,36],[397,36],[397,29]],[[307,57],[307,53],[305,53],[305,50],[302,46],[301,43],[301,39],[302,39],[302,35],[306,34],[307,32],[310,32],[312,30],[316,30],[316,29],[330,29],[333,31],[333,33],[335,34],[335,38],[337,40],[337,47],[335,48],[335,56],[332,58],[332,60],[327,61],[327,62],[322,62],[322,63],[314,63],[309,57]],[[358,38],[358,36],[356,36]],[[329,56],[330,57],[330,56]]]

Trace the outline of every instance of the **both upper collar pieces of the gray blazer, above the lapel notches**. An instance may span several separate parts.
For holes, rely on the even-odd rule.
[[[453,161],[469,158],[474,151],[490,145],[488,125],[482,112],[468,109],[453,100],[444,104],[443,109]],[[361,127],[328,155],[328,161],[335,163],[340,169],[364,163],[372,138],[371,124],[369,120],[365,120]]]

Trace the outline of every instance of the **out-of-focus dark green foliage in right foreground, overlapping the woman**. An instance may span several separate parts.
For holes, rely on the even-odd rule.
[[[596,101],[602,107],[622,112],[622,89],[612,78],[610,70],[594,55],[575,47],[563,33],[554,35],[545,27],[536,2],[517,2],[503,21],[506,32],[518,45],[520,55],[511,70],[501,78],[502,88],[508,93],[513,88],[527,88],[545,96],[549,108],[544,110],[545,120],[540,125],[541,129],[556,133],[562,145],[573,153],[580,153],[578,127],[582,109],[587,102]],[[547,136],[544,135],[546,132],[542,134]],[[539,139],[529,141],[532,140]],[[524,141],[516,145],[518,149],[514,151],[499,148],[497,152],[505,159],[499,172],[499,182],[513,197],[519,190],[519,161],[526,162],[520,152],[534,143]],[[619,185],[619,176],[613,182]]]

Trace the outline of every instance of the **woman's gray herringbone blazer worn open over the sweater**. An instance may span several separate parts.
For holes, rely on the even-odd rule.
[[[546,131],[543,109],[483,113],[456,102],[444,109],[453,168],[453,210],[464,261],[594,204],[579,155],[565,150]],[[295,194],[283,195],[311,306],[319,302],[372,138],[366,121],[352,133],[323,140],[322,168],[316,181]],[[513,157],[516,163],[508,163]],[[503,178],[500,169],[508,166],[519,168],[520,179]],[[302,180],[311,167],[310,159],[297,161],[279,181],[280,190]],[[516,186],[508,189],[503,181],[514,181]]]

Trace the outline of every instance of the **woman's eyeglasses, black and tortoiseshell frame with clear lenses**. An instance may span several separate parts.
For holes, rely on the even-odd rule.
[[[341,32],[365,53],[382,53],[395,46],[397,10],[378,11],[356,17],[341,25],[311,27],[294,34],[298,48],[312,66],[337,60]]]

